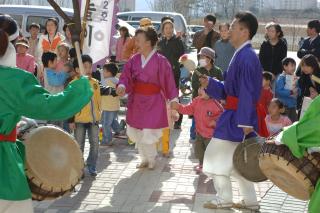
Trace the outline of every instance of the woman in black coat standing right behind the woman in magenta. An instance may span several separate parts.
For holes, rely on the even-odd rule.
[[[164,55],[172,66],[172,72],[176,82],[176,87],[179,89],[180,81],[180,64],[179,58],[185,53],[183,43],[179,37],[174,35],[174,24],[171,20],[166,20],[162,23],[162,38],[158,43],[158,51]],[[174,128],[180,129],[182,123],[182,115],[175,123]]]

